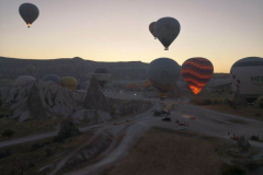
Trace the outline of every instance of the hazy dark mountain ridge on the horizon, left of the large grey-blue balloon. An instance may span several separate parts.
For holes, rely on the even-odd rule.
[[[115,80],[145,80],[149,63],[141,61],[96,62],[80,57],[47,60],[0,57],[0,79],[16,79],[19,75],[28,74],[25,69],[27,65],[35,67],[33,75],[36,79],[55,73],[60,77],[72,75],[80,81],[85,81],[87,73],[93,72],[99,67],[107,68]]]

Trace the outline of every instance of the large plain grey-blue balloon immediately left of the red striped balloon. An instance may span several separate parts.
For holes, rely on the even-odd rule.
[[[160,93],[161,100],[167,96],[173,84],[180,77],[180,66],[170,58],[158,58],[148,67],[148,78]]]

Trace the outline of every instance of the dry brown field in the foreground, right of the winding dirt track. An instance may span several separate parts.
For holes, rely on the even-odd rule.
[[[217,143],[153,128],[119,165],[105,175],[219,175],[222,161],[215,152]]]

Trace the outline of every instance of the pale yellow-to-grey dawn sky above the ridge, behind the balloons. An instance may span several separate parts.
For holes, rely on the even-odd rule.
[[[27,28],[19,7],[39,9]],[[182,65],[204,57],[228,73],[239,59],[263,57],[263,0],[0,0],[0,56],[23,59],[81,57],[142,61],[167,57]],[[169,50],[149,24],[172,16],[181,24]]]

